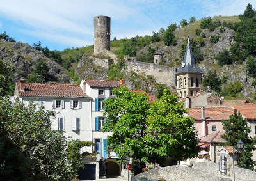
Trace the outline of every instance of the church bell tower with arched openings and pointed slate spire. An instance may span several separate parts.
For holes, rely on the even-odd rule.
[[[195,63],[189,39],[186,47],[183,63],[177,70],[177,93],[179,97],[195,95],[202,90],[203,71]]]

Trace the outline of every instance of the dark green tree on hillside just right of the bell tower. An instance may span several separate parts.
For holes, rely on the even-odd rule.
[[[209,72],[207,75],[205,75],[203,79],[203,86],[210,86],[211,90],[214,90],[216,92],[220,92],[220,84],[221,79],[218,77],[216,70],[214,72]]]

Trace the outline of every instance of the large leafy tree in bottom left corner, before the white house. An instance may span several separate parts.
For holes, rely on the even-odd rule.
[[[52,111],[45,111],[44,107],[38,107],[32,103],[25,107],[17,100],[12,106],[8,98],[0,99],[0,122],[5,130],[5,140],[14,147],[13,152],[19,154],[20,159],[26,159],[28,162],[25,167],[28,169],[25,172],[31,180],[74,178],[77,176],[77,169],[83,166],[72,162],[72,159],[81,159],[80,156],[79,159],[76,155],[67,156],[66,148],[72,143],[67,144],[67,141],[62,138],[61,132],[51,130],[50,117],[52,113]],[[7,142],[5,141],[5,143]],[[79,150],[79,146],[75,148]],[[74,146],[72,150],[74,150]],[[5,150],[9,153],[11,151],[10,149]],[[6,163],[6,158],[0,161],[2,166]],[[9,165],[9,168],[12,169],[12,165]],[[24,169],[19,169],[19,171],[24,174]],[[3,177],[8,177],[10,173],[10,170],[5,170]]]

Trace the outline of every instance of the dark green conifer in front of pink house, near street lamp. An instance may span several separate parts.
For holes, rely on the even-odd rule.
[[[239,156],[238,165],[246,169],[254,169],[255,161],[252,160],[252,151],[255,150],[255,139],[249,137],[250,127],[248,121],[243,118],[237,110],[229,117],[229,120],[222,122],[225,134],[221,136],[225,139],[228,145],[235,146],[239,140],[244,142],[244,148]]]

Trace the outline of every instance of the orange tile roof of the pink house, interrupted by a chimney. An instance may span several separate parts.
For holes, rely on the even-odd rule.
[[[231,107],[205,107],[205,118],[207,120],[228,120],[234,113]],[[189,116],[195,120],[201,120],[201,108],[190,108]]]

